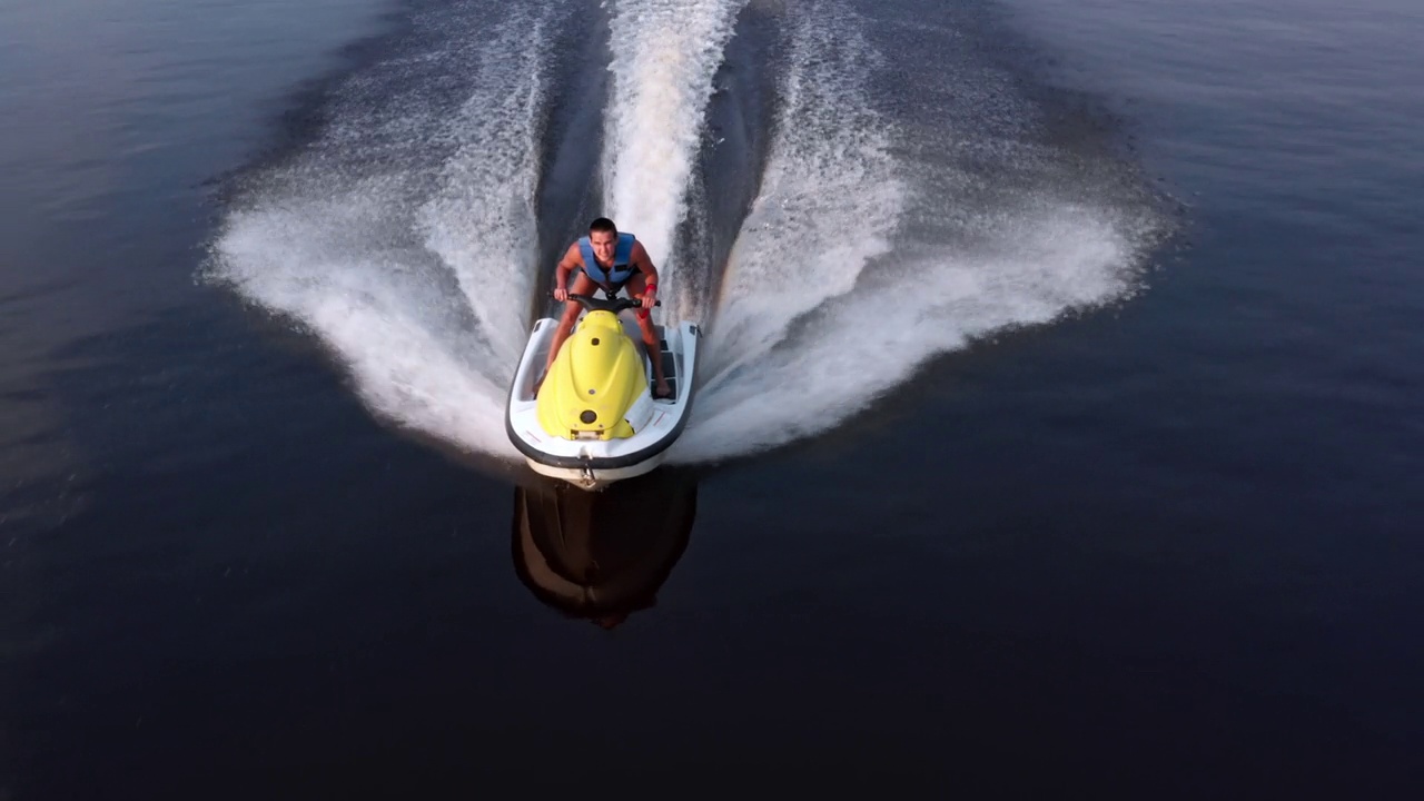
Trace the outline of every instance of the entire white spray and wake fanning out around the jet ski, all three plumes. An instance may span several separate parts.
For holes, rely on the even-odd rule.
[[[607,201],[668,274],[743,6],[618,0],[611,19]],[[533,9],[488,24],[487,9],[457,4],[426,31],[440,51],[353,77],[333,124],[249,181],[209,269],[320,338],[377,415],[508,459],[507,382],[544,269],[535,192],[553,11]],[[1149,215],[1055,174],[1062,160],[1020,138],[1032,108],[1005,100],[1007,81],[985,84],[977,66],[943,76],[968,105],[913,127],[904,108],[874,103],[884,54],[864,20],[833,0],[787,14],[760,194],[721,296],[698,299],[709,312],[701,389],[675,462],[824,433],[936,353],[1119,298],[1151,239]],[[439,100],[451,80],[466,94]]]

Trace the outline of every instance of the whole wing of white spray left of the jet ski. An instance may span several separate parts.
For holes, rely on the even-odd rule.
[[[503,416],[535,275],[544,19],[451,20],[471,30],[353,80],[337,124],[258,178],[209,277],[319,336],[379,415],[514,456]],[[431,60],[474,73],[454,114],[387,86]]]

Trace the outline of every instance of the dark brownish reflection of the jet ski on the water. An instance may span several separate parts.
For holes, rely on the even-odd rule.
[[[664,467],[601,492],[530,476],[514,490],[514,573],[534,597],[604,629],[656,603],[696,516],[696,479]]]

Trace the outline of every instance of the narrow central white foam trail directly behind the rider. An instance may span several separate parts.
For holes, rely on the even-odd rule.
[[[678,224],[698,157],[712,78],[746,0],[617,0],[604,187],[609,217],[634,231],[672,282]],[[676,295],[664,315],[679,319]]]

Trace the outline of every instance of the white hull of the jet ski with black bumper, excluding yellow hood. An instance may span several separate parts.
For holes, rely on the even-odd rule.
[[[638,325],[624,319],[624,332],[642,349]],[[672,399],[654,400],[652,366],[648,386],[628,410],[629,422],[638,420],[635,433],[619,439],[565,439],[544,430],[533,395],[534,381],[544,372],[548,346],[558,321],[541,318],[534,324],[528,345],[510,386],[506,432],[535,473],[564,479],[587,490],[604,489],[614,482],[654,470],[666,458],[668,448],[682,433],[692,408],[692,381],[696,372],[702,331],[696,324],[655,326],[661,339],[664,373],[672,385]],[[651,406],[651,409],[649,409]]]

